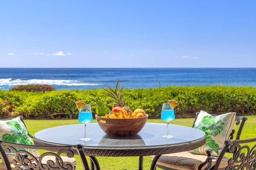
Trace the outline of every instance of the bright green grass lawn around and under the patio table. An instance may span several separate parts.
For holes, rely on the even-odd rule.
[[[256,137],[256,116],[247,116],[248,120],[244,125],[244,129],[242,131],[240,139],[248,139]],[[62,125],[71,125],[71,124],[78,124],[77,119],[74,120],[24,120],[28,131],[31,135],[34,135],[37,131],[42,129],[62,126]],[[175,119],[170,121],[170,124],[174,125],[184,125],[191,127],[193,124],[194,118],[184,118],[184,119]],[[94,119],[93,122],[96,122]],[[165,123],[166,121],[162,121],[160,119],[148,119],[149,123]],[[165,129],[164,129],[165,130]],[[61,132],[60,132],[61,133]],[[78,160],[77,170],[82,170],[82,165],[79,161],[78,156],[76,157]],[[138,169],[138,157],[97,157],[101,170],[134,170]],[[144,156],[144,163],[143,168],[145,170],[150,169],[150,156]]]

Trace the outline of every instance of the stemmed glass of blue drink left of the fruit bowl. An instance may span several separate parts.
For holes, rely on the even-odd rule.
[[[87,137],[86,134],[86,123],[92,122],[92,109],[90,104],[86,104],[79,110],[78,121],[84,123],[84,138],[79,139],[79,141],[91,141],[91,138]]]

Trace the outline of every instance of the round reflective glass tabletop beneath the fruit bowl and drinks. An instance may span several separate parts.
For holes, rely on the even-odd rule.
[[[174,138],[162,138],[166,135],[166,124],[146,123],[137,135],[110,136],[106,135],[98,123],[88,123],[87,137],[92,141],[79,141],[84,137],[84,124],[65,125],[38,131],[34,137],[46,143],[61,145],[82,144],[87,147],[154,147],[192,142],[204,137],[204,132],[192,127],[169,125],[170,135]]]

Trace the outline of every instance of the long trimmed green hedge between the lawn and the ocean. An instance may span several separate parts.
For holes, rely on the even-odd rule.
[[[94,97],[105,102],[108,97],[102,89],[59,90],[50,92],[0,91],[0,117],[23,115],[25,118],[77,119],[75,101],[91,104],[95,113]],[[141,108],[149,118],[159,118],[162,103],[174,99],[176,117],[191,117],[195,112],[226,113],[234,111],[242,115],[254,115],[256,111],[256,88],[233,86],[170,86],[164,88],[125,90],[127,107]]]

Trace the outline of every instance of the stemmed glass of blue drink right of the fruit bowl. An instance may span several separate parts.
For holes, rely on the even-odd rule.
[[[175,119],[174,109],[170,104],[163,103],[161,119],[167,121],[167,135],[162,136],[162,138],[174,138],[174,136],[169,135],[169,121]]]

